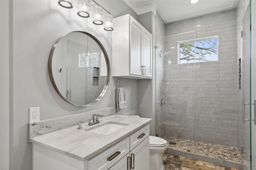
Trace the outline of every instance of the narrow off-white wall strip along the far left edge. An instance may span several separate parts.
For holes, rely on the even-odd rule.
[[[0,169],[9,169],[9,2],[0,1]]]

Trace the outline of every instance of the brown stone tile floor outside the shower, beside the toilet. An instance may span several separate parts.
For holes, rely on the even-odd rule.
[[[238,170],[168,153],[163,154],[163,160],[164,170]]]

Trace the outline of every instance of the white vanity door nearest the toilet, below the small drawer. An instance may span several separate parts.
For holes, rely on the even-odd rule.
[[[149,137],[130,151],[131,168],[134,170],[149,170]]]

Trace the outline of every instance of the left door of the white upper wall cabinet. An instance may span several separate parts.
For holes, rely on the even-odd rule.
[[[142,75],[142,26],[131,18],[130,74]]]

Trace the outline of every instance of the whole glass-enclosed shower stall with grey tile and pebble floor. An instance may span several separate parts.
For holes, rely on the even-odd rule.
[[[156,15],[156,134],[166,152],[249,170],[250,4],[239,26],[237,12]]]

